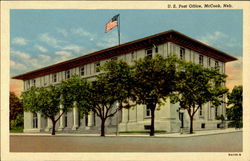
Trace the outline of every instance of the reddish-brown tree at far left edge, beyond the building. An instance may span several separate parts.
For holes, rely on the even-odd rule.
[[[20,99],[15,95],[15,93],[10,92],[10,117],[9,117],[9,124],[10,124],[10,129],[12,127],[11,122],[16,120],[16,118],[21,116],[23,114],[23,105]],[[19,118],[20,120],[20,118]]]

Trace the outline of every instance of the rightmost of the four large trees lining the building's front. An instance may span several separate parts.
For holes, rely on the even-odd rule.
[[[179,102],[181,108],[187,110],[190,117],[190,134],[193,133],[193,118],[203,104],[211,101],[214,106],[223,103],[223,95],[227,92],[226,75],[217,68],[205,68],[199,64],[178,61],[176,73],[176,92],[171,97],[172,103]]]

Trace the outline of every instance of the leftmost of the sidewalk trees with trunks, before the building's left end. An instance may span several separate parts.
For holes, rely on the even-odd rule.
[[[55,135],[56,122],[67,110],[66,106],[60,109],[60,89],[55,86],[36,88],[32,87],[29,91],[22,94],[22,102],[25,111],[41,112],[42,115],[52,121],[52,135]],[[63,112],[59,115],[60,110]],[[59,115],[57,118],[56,116]]]

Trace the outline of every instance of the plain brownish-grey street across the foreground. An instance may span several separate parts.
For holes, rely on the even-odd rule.
[[[192,137],[10,136],[11,152],[241,152],[242,132]]]

